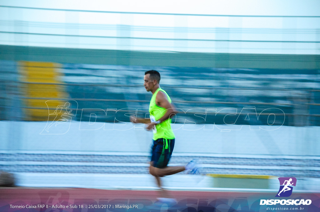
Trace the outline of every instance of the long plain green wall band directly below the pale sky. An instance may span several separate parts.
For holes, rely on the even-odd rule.
[[[1,60],[141,66],[319,69],[319,55],[270,55],[65,49],[0,45]]]

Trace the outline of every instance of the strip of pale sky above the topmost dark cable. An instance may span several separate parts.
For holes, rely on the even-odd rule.
[[[73,10],[223,15],[320,16],[319,0],[1,0],[1,5]]]

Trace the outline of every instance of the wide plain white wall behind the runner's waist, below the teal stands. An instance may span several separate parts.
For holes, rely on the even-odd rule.
[[[104,130],[118,128],[119,125],[98,123],[97,130],[79,130],[80,122],[62,123],[64,134],[50,134],[44,129],[47,122],[1,121],[1,150],[43,150],[43,151],[125,151],[149,152],[152,133],[143,130],[143,125],[126,123],[129,130]],[[70,124],[70,125],[69,125]],[[81,123],[83,124],[83,123]],[[84,123],[83,126],[89,123]],[[68,128],[69,126],[69,128]],[[89,126],[89,125],[88,125]],[[206,125],[199,130],[185,130],[182,124],[175,124],[176,153],[208,153],[238,155],[320,155],[319,126],[293,127],[281,126],[276,130],[241,130],[221,132],[225,125]],[[203,125],[188,126],[188,129],[201,128]],[[208,128],[207,128],[208,127]],[[268,129],[269,126],[263,126]],[[270,126],[272,127],[272,126]],[[220,128],[220,129],[219,129]],[[228,126],[239,129],[239,125]],[[93,129],[93,128],[92,128]],[[142,130],[141,130],[142,129]],[[271,129],[271,128],[270,128]],[[40,134],[40,133],[45,134]],[[57,131],[56,131],[57,132]],[[63,131],[59,131],[63,132]],[[54,132],[53,132],[54,133]]]

